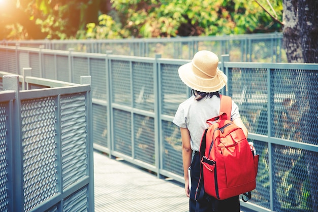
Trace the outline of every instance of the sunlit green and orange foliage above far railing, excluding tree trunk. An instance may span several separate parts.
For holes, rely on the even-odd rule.
[[[110,11],[103,9],[105,0],[9,1],[0,8],[0,39],[149,38],[281,31],[281,25],[256,1],[110,1]],[[277,20],[282,19],[280,0],[271,0],[274,11],[267,0],[258,2]]]

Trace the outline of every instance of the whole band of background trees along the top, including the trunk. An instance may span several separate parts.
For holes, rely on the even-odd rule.
[[[316,0],[0,0],[0,40],[283,31],[289,62],[317,63],[316,8]]]

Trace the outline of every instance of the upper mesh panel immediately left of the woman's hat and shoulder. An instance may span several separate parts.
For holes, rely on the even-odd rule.
[[[178,75],[180,65],[161,65],[162,114],[174,116],[179,104],[187,99],[186,85]]]

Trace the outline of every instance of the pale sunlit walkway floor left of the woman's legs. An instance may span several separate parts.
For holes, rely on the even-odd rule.
[[[183,185],[94,152],[95,211],[188,211]]]

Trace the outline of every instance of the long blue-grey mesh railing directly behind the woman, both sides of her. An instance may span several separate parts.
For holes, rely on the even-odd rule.
[[[231,45],[241,48],[243,44]],[[29,57],[36,52],[18,50],[28,51]],[[6,47],[5,51],[15,52],[16,48]],[[41,55],[44,50],[37,51]],[[177,72],[189,60],[52,51],[51,59],[57,57],[67,62],[63,68],[68,74],[63,80],[72,81],[79,75],[76,72],[92,75],[96,149],[183,182],[180,131],[172,120],[190,93]],[[318,65],[236,63],[222,58],[219,68],[228,76],[228,91],[222,93],[238,104],[248,139],[260,153],[257,188],[249,200],[255,205],[242,205],[255,210],[315,211]],[[77,61],[81,65],[74,68]],[[38,63],[45,72],[44,63]],[[80,66],[85,68],[78,70]],[[62,76],[57,69],[54,72]]]

